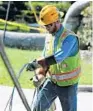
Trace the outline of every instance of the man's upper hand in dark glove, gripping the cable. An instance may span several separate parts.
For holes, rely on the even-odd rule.
[[[38,64],[37,60],[34,60],[34,61],[27,64],[26,70],[27,71],[34,71],[39,67],[41,67],[40,64]]]

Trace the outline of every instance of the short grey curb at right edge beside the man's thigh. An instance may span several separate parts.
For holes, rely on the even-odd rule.
[[[93,92],[92,85],[79,85],[78,92]]]

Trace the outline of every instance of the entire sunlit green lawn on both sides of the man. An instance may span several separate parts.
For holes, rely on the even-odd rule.
[[[25,63],[28,63],[35,58],[40,57],[41,51],[27,51],[27,50],[19,50],[12,48],[5,48],[8,58],[11,62],[11,65],[16,73],[18,74],[19,70]],[[80,78],[79,84],[82,85],[91,85],[92,84],[92,64],[86,62],[85,60],[81,61],[82,65],[82,74]],[[33,88],[32,81],[30,78],[33,77],[33,72],[23,71],[19,82],[24,88]],[[3,61],[0,57],[0,84],[13,86],[12,80],[3,64]]]

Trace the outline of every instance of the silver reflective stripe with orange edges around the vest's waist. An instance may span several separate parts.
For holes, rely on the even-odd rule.
[[[69,80],[77,77],[81,72],[81,67],[78,67],[77,69],[71,71],[71,72],[66,72],[66,73],[60,73],[60,74],[52,74],[52,79],[57,80],[57,81],[63,81],[63,80]]]

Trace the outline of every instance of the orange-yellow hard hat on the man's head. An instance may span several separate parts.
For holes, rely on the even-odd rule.
[[[42,8],[40,12],[40,21],[39,24],[41,25],[48,25],[53,22],[56,22],[59,18],[58,10],[55,6],[47,5]]]

